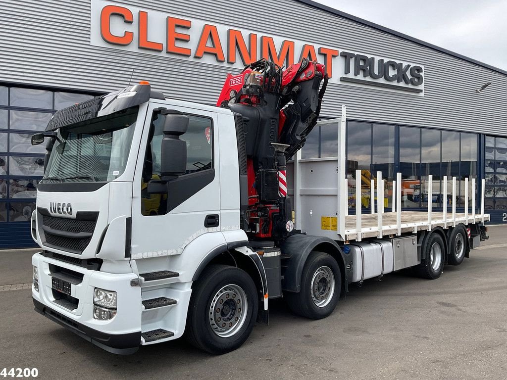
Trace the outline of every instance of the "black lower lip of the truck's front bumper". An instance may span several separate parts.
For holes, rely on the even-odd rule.
[[[79,322],[68,319],[63,314],[45,306],[42,302],[33,298],[34,310],[53,322],[68,328],[70,331],[78,334],[82,338],[93,343],[101,349],[119,355],[130,355],[139,350],[141,341],[141,331],[126,334],[112,335],[94,330]]]

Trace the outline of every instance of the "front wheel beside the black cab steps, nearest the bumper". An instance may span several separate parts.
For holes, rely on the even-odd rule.
[[[210,354],[228,353],[248,338],[258,308],[256,285],[245,271],[210,265],[194,283],[185,335],[193,346]]]

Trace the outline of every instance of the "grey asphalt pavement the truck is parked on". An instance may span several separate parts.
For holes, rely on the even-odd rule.
[[[489,234],[438,280],[396,273],[352,285],[323,320],[272,301],[269,326],[222,356],[183,339],[107,353],[33,311],[33,251],[0,251],[0,370],[80,380],[507,379],[507,226]]]

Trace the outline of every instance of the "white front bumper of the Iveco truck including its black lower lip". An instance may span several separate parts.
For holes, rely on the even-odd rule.
[[[32,264],[38,267],[39,272],[39,291],[32,285],[36,311],[106,351],[131,354],[138,349],[141,344],[141,288],[131,285],[131,280],[138,280],[137,275],[131,272],[100,272],[39,253],[32,256]],[[121,267],[113,269],[123,269],[124,272],[127,270],[125,264],[129,268],[128,263],[123,263]],[[70,285],[74,304],[69,305],[55,298],[60,293],[52,289],[52,278],[58,273],[74,273],[80,279]],[[95,287],[118,294],[117,314],[110,320],[93,318]]]

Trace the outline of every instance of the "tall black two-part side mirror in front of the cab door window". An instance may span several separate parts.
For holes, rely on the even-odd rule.
[[[163,181],[174,179],[187,171],[187,142],[179,136],[187,132],[189,118],[179,111],[164,110],[164,138],[160,153],[160,174]]]

